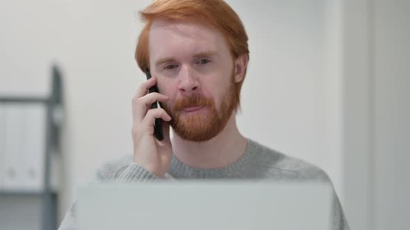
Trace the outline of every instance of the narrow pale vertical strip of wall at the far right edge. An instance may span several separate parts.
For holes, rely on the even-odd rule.
[[[374,1],[372,160],[377,230],[409,229],[409,11],[409,1]]]

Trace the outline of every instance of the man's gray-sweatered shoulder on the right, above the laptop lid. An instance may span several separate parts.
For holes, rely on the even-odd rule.
[[[329,182],[327,173],[313,163],[297,157],[290,157],[250,139],[248,139],[248,143],[254,161],[261,166],[261,170],[267,178]]]

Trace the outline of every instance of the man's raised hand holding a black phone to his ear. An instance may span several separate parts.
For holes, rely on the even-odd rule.
[[[133,160],[156,177],[163,177],[172,161],[170,125],[167,123],[171,117],[160,105],[168,97],[158,93],[156,78],[151,78],[149,69],[146,74],[147,81],[140,85],[133,98]]]

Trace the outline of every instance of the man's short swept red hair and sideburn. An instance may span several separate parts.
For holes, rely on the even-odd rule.
[[[149,29],[155,19],[194,17],[211,24],[224,35],[234,60],[243,54],[246,54],[249,60],[245,27],[236,12],[222,0],[155,0],[145,10],[140,11],[140,17],[146,24],[138,37],[136,60],[143,72],[145,67],[149,67]],[[243,80],[235,85],[238,104],[242,84]]]

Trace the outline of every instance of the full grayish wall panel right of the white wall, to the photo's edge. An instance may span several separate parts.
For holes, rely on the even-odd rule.
[[[410,2],[345,2],[345,211],[352,229],[409,229]]]

